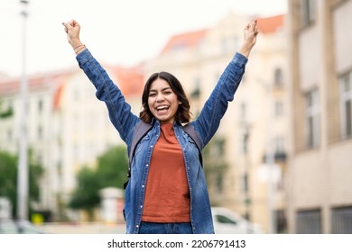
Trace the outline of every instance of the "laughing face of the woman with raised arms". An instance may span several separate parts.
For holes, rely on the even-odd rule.
[[[167,81],[162,78],[153,81],[149,89],[148,106],[155,119],[161,123],[173,123],[180,104],[181,102]]]

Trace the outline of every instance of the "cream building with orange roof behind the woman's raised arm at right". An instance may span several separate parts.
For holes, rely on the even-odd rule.
[[[174,35],[158,57],[146,62],[145,76],[168,71],[178,77],[196,118],[252,20],[228,14],[207,29]],[[258,25],[242,84],[204,149],[204,168],[213,205],[230,208],[269,232],[284,231],[283,174],[289,146],[284,16],[258,17]],[[272,187],[269,176],[276,177]]]

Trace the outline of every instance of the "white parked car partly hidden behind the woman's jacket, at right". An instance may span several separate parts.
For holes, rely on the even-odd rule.
[[[264,230],[227,208],[211,208],[216,234],[262,234]]]

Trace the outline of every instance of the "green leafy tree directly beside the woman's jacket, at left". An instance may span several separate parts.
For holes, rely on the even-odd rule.
[[[69,200],[69,207],[84,210],[89,220],[100,203],[99,190],[108,186],[123,188],[127,180],[126,148],[117,146],[97,157],[97,167],[84,166],[77,175],[78,186]]]

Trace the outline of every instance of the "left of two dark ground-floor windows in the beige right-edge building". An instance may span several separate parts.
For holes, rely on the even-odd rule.
[[[297,224],[296,229],[298,234],[320,234],[321,233],[320,210],[298,211],[296,224]]]

